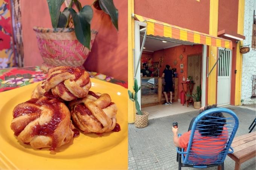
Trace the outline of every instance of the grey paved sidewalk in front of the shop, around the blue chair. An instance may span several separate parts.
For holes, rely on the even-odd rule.
[[[236,136],[249,132],[248,127],[255,118],[255,111],[247,108],[229,106],[239,118]],[[190,120],[198,115],[198,111],[176,114],[149,120],[146,128],[136,128],[129,124],[128,131],[128,169],[130,170],[177,170],[176,147],[172,142],[172,122],[178,122],[179,133],[187,131]],[[255,129],[252,131],[255,133]],[[225,170],[234,170],[235,162],[227,156]],[[241,170],[255,170],[255,158],[241,164]],[[196,168],[181,168],[194,170]],[[217,167],[203,168],[216,170]]]

